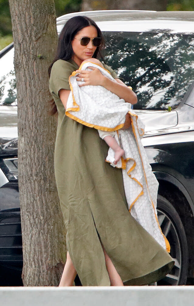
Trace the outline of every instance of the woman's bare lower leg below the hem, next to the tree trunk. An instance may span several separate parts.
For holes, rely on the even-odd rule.
[[[67,252],[67,260],[64,266],[63,274],[60,279],[59,287],[72,286],[77,272],[71,261],[69,252]]]

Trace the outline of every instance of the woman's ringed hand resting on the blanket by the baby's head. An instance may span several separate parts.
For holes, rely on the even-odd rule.
[[[102,85],[103,75],[98,68],[88,67],[92,70],[76,70],[79,73],[76,76],[77,81],[81,81],[84,78],[84,83],[80,84],[79,87],[86,85]]]

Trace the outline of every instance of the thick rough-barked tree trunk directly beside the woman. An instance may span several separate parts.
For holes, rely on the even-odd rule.
[[[57,45],[54,0],[9,0],[18,98],[18,164],[24,286],[57,286],[66,259],[53,169],[56,119],[48,66]]]

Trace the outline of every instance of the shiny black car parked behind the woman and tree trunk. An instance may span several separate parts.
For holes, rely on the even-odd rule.
[[[170,242],[173,270],[157,285],[194,277],[194,12],[93,11],[75,15],[103,31],[104,60],[138,97],[148,160],[158,181],[158,219]],[[0,265],[22,268],[17,184],[13,44],[0,53]]]

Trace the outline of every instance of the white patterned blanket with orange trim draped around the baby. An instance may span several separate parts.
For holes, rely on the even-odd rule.
[[[88,66],[97,67],[101,73],[114,80],[106,69],[92,62],[82,64],[79,69],[90,70]],[[158,181],[141,143],[144,134],[142,121],[131,109],[130,103],[125,103],[106,88],[91,85],[79,87],[82,82],[76,80],[77,74],[73,72],[69,77],[71,93],[66,115],[95,129],[117,131],[115,139],[125,151],[125,156],[119,160],[116,167],[122,168],[129,211],[141,226],[170,252],[170,245],[161,231],[157,218]],[[127,113],[131,116],[131,127],[121,130]],[[114,151],[109,148],[106,161],[112,162],[112,159]]]

